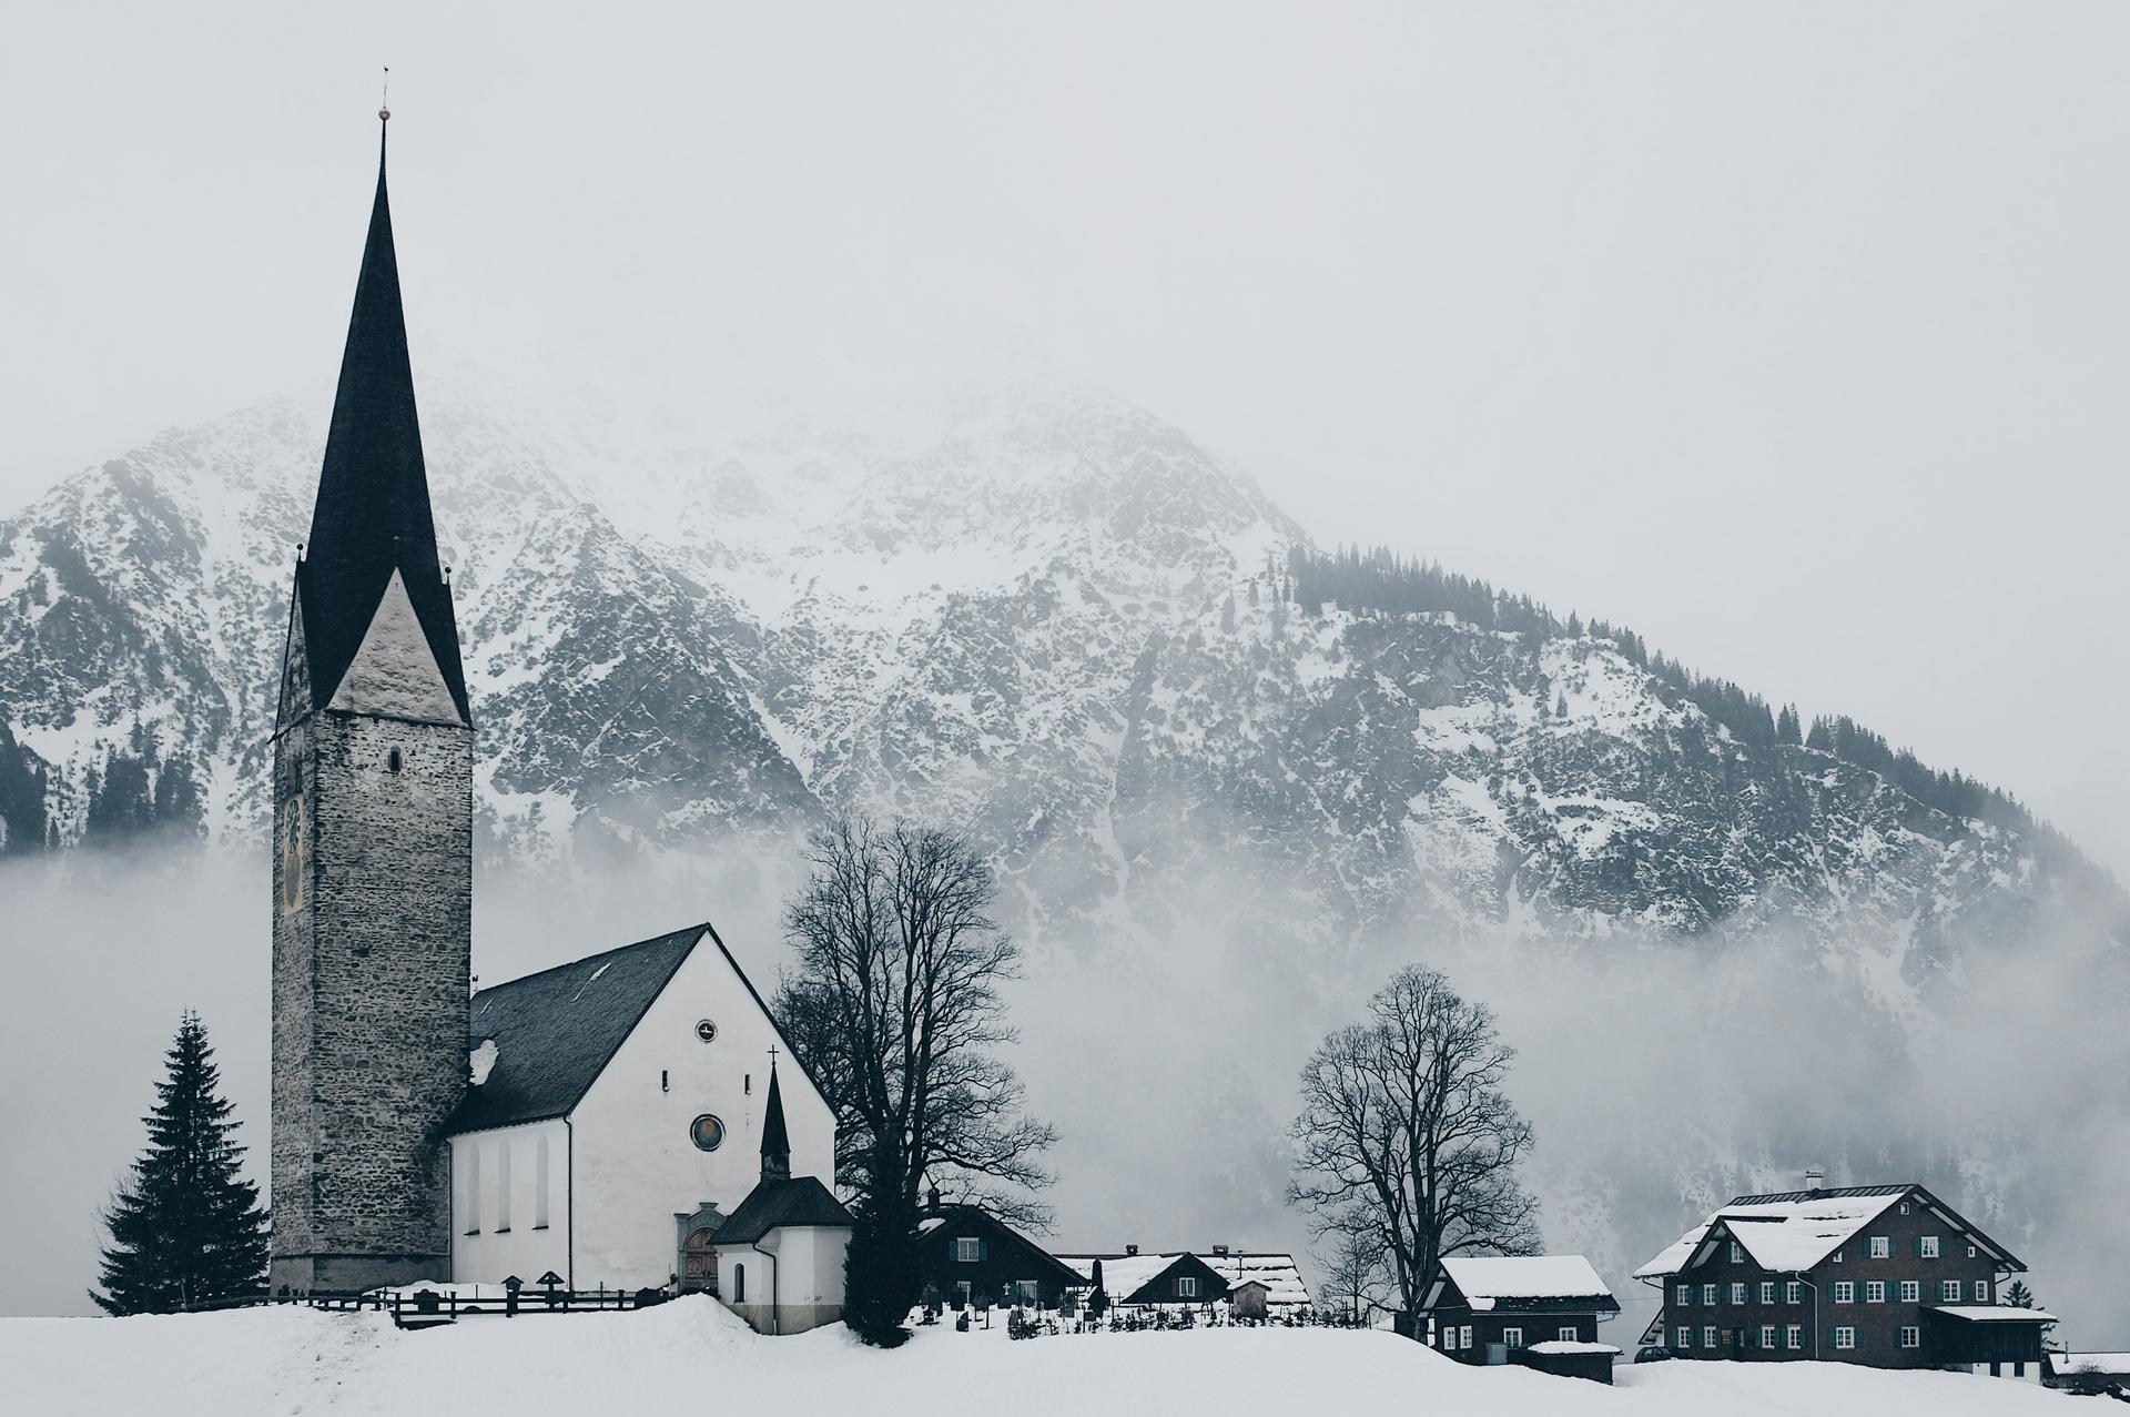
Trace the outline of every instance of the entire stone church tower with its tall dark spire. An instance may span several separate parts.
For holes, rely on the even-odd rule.
[[[379,119],[388,119],[379,113]],[[273,1285],[445,1278],[466,1089],[473,716],[383,136],[273,735]]]

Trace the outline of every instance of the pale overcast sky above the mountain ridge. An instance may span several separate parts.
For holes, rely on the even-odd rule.
[[[1050,362],[2130,876],[2130,6],[109,6],[0,45],[0,509],[420,364]]]

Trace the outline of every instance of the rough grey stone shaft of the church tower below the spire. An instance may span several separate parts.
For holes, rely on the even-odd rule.
[[[273,901],[273,1283],[445,1278],[473,731],[332,710],[283,727]]]

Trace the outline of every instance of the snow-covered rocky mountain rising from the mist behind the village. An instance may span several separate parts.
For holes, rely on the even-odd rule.
[[[324,413],[277,401],[168,430],[0,522],[0,850],[194,825],[256,840]],[[1817,980],[1791,1008],[1904,1065],[2034,940],[2070,929],[2119,970],[2124,897],[2051,833],[1751,742],[1580,622],[1297,599],[1304,528],[1101,392],[963,388],[720,439],[424,384],[424,441],[484,854],[605,869],[739,837],[788,857],[852,805],[967,825],[1065,1001],[1025,1033],[1076,1078],[1039,1089],[1069,1134],[1142,1087],[1074,1072],[1091,1046],[1137,1040],[1182,1076],[1269,1040],[1169,1114],[1180,1136],[1276,1136],[1301,1050],[1414,955],[1480,976],[1574,959],[1644,989],[1755,946]],[[1736,976],[1661,997],[1704,1004],[1664,1014],[1681,1029],[1742,1008]],[[1651,1195],[1781,1189],[1796,1157],[1774,1127],[1702,1121],[1634,1195],[1557,1157],[1553,1215],[1617,1227]],[[1857,1163],[1911,1166],[1904,1136]],[[1851,1129],[1806,1159],[1855,1146]],[[2011,1142],[1947,1146],[1966,1210],[1998,1219]],[[1276,1146],[1231,1157],[1225,1212],[1274,1210],[1282,1168]],[[1159,1185],[1105,1178],[1095,1208],[1197,1212],[1148,1200]]]

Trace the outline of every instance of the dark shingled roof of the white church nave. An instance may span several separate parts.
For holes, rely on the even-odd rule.
[[[690,925],[473,995],[466,1048],[494,1038],[496,1061],[447,1131],[569,1114],[705,935],[709,925]]]

